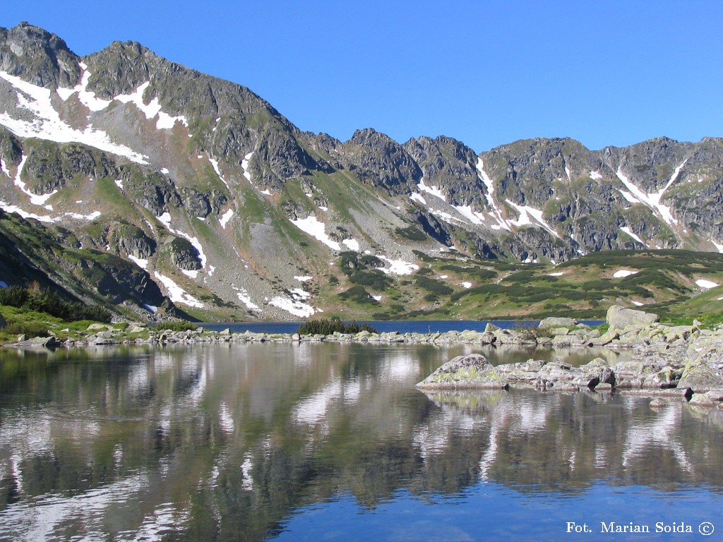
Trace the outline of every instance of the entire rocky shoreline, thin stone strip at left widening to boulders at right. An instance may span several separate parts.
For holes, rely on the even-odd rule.
[[[529,386],[542,391],[614,390],[645,395],[685,397],[693,403],[717,405],[723,400],[723,325],[714,330],[699,322],[686,326],[660,324],[658,317],[643,311],[612,306],[607,311],[608,329],[601,332],[566,318],[542,320],[537,328],[502,329],[488,324],[484,332],[437,333],[233,333],[197,330],[174,332],[132,325],[125,330],[92,324],[85,335],[58,340],[35,337],[4,345],[7,348],[71,348],[92,345],[167,345],[204,343],[405,343],[434,345],[520,345],[531,348],[624,348],[633,361],[609,366],[596,358],[573,367],[560,361],[529,360],[521,364],[492,366],[481,354],[461,356],[441,366],[420,389],[500,389]]]

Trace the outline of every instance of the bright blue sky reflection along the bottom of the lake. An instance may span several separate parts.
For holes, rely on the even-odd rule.
[[[701,508],[701,502],[708,508]],[[710,503],[714,507],[710,507]],[[411,494],[398,491],[392,499],[365,508],[353,496],[341,495],[321,504],[297,509],[282,523],[273,540],[334,541],[573,541],[706,540],[701,522],[719,520],[720,494],[706,489],[685,494],[653,491],[644,486],[596,484],[573,498],[563,495],[518,493],[497,483],[479,483],[461,494]],[[586,524],[591,533],[568,533],[568,522]],[[601,523],[648,525],[651,533],[601,533]],[[656,533],[656,522],[680,525],[693,534]],[[323,528],[323,531],[320,530]],[[715,538],[715,535],[711,538]]]

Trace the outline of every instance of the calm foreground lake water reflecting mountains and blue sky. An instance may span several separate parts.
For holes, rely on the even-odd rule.
[[[0,349],[0,540],[723,539],[721,410],[415,389],[470,352],[531,357],[344,343]],[[599,354],[627,355],[534,357]],[[611,522],[650,533],[601,533]]]

